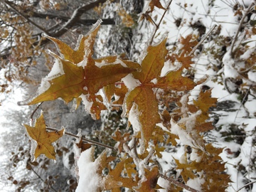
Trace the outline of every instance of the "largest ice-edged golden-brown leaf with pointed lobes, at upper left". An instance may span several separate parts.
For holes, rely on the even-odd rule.
[[[60,56],[51,53],[55,60],[59,60],[60,68],[63,68],[63,73],[56,78],[47,80],[48,90],[41,92],[38,90],[38,95],[29,102],[20,102],[21,105],[33,105],[38,102],[56,100],[59,97],[65,102],[70,102],[73,99],[80,103],[80,96],[85,103],[90,105],[90,113],[96,119],[100,118],[101,110],[106,107],[103,104],[101,95],[97,95],[100,89],[107,85],[111,85],[120,81],[129,73],[139,68],[139,64],[129,60],[121,60],[117,56],[109,56],[100,59],[92,58],[93,45],[97,31],[100,28],[100,21],[97,21],[92,30],[87,36],[80,36],[78,46],[75,50],[68,45],[55,38],[50,38],[51,41],[58,46]]]

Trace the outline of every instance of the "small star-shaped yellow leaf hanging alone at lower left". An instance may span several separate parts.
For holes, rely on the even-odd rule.
[[[54,147],[51,144],[63,136],[64,129],[58,132],[47,132],[43,113],[36,119],[35,127],[30,127],[27,124],[24,124],[24,127],[26,127],[29,137],[37,142],[35,159],[41,154],[45,154],[49,159],[55,159]]]

